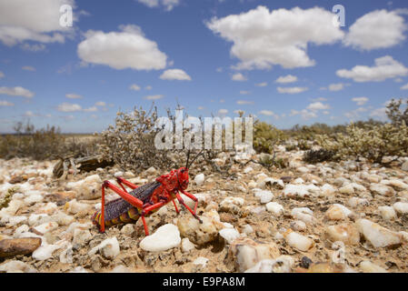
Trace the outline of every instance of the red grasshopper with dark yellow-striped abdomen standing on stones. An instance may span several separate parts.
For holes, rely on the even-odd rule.
[[[197,156],[199,156],[199,153]],[[197,218],[200,223],[201,219],[196,215],[198,200],[195,196],[185,189],[188,186],[188,159],[190,152],[187,156],[187,163],[185,167],[181,167],[178,170],[172,170],[169,174],[159,176],[154,182],[145,184],[144,186],[135,186],[129,181],[124,180],[122,177],[117,177],[116,181],[119,186],[114,186],[109,181],[104,181],[102,185],[102,206],[101,211],[95,212],[92,216],[92,222],[94,225],[100,227],[100,231],[104,233],[105,226],[114,226],[122,223],[136,222],[139,217],[142,217],[144,224],[144,233],[149,236],[149,230],[147,228],[144,217],[152,215],[159,210],[160,207],[165,206],[170,201],[173,201],[175,211],[177,214],[179,210],[175,206],[174,198],[177,198],[178,202],[184,206],[191,214]],[[197,158],[197,156],[194,157]],[[193,160],[193,162],[194,162]],[[193,164],[193,162],[191,164]],[[190,166],[191,166],[190,164]],[[129,193],[124,186],[132,188]],[[104,205],[104,189],[111,188],[122,198],[115,199]],[[185,196],[190,197],[195,202],[194,210],[184,204],[179,192]]]

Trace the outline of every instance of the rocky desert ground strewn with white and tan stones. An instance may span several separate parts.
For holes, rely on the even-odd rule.
[[[0,160],[0,272],[408,272],[407,158],[307,165],[279,150],[284,169],[243,156],[228,176],[194,166],[203,224],[170,203],[147,219],[147,237],[140,220],[101,234],[91,216],[104,180],[141,186],[164,174],[153,167],[56,179],[57,161]]]

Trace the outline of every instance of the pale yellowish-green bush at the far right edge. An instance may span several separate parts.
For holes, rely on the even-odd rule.
[[[381,163],[383,156],[408,156],[408,127],[392,124],[349,125],[346,134],[317,135],[316,140],[325,150],[333,151],[334,158],[365,157]]]

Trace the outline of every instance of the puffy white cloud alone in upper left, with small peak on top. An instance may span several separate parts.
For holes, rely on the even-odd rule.
[[[167,55],[154,41],[144,37],[136,25],[120,25],[120,32],[104,33],[88,30],[78,45],[78,56],[87,63],[109,65],[114,69],[160,70]]]

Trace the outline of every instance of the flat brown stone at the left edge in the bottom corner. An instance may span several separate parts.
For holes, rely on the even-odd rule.
[[[36,237],[0,240],[0,257],[28,255],[41,246],[42,239]]]

